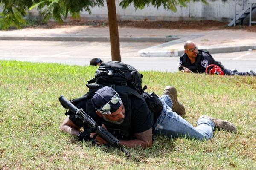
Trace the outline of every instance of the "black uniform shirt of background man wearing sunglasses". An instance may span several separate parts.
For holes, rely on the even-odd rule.
[[[187,54],[184,53],[180,56],[179,71],[183,70],[184,66],[194,73],[204,73],[205,69],[210,64],[215,64],[219,66],[219,63],[212,58],[209,52],[203,52],[202,50],[198,50],[198,55],[196,57],[195,63],[191,63]]]

